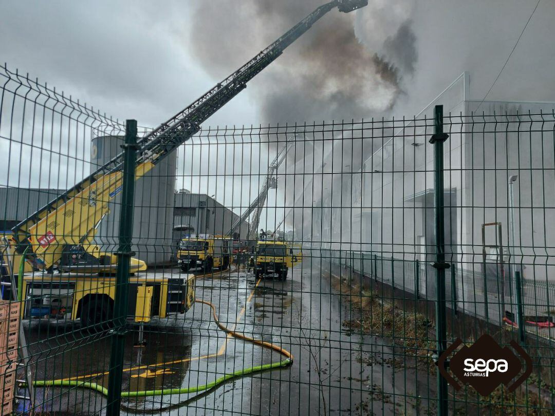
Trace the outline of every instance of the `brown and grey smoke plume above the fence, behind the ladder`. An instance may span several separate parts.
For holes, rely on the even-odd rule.
[[[372,6],[372,13],[334,10],[317,22],[251,82],[260,121],[368,118],[391,109],[417,58],[412,8],[399,3]],[[203,2],[193,18],[194,53],[208,73],[223,78],[320,4]]]

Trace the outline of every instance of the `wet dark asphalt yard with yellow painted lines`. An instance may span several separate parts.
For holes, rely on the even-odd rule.
[[[286,281],[266,278],[257,285],[252,273],[237,267],[199,277],[196,298],[213,303],[226,327],[287,349],[292,365],[200,392],[124,399],[122,414],[433,413],[435,404],[424,398],[433,397],[435,376],[407,369],[414,363],[380,338],[347,331],[342,322],[356,313],[336,283],[310,258],[290,269]],[[107,386],[109,333],[90,337],[78,325],[33,323],[26,335],[36,362],[34,378],[79,377]],[[123,392],[195,387],[285,358],[228,336],[216,326],[210,307],[200,303],[185,315],[151,322],[145,338],[145,347],[134,347],[138,332],[127,335]],[[93,390],[50,387],[34,394],[51,414],[105,412],[106,398]]]

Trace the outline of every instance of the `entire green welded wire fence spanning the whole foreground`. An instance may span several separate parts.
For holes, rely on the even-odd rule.
[[[16,414],[105,414],[114,376],[122,414],[436,414],[430,111],[205,128],[163,158],[140,129],[125,201],[125,123],[1,74],[2,294],[23,326],[0,364],[21,381],[2,397]],[[516,339],[533,373],[515,392],[450,386],[448,408],[552,414],[555,119],[485,105],[443,120],[447,342]]]

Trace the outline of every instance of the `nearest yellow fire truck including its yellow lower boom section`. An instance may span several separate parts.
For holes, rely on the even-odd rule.
[[[153,166],[140,164],[135,177]],[[14,270],[23,318],[79,318],[82,326],[96,326],[112,316],[117,255],[100,251],[93,237],[108,202],[122,188],[122,171],[87,181],[12,230],[7,257],[13,265],[22,265],[22,258],[28,265]],[[33,272],[21,272],[29,266]],[[194,276],[157,276],[146,270],[144,261],[130,259],[129,280],[136,283],[130,284],[129,317],[146,322],[186,312],[194,300]]]

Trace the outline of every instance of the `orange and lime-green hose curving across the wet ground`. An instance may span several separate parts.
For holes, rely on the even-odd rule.
[[[204,300],[195,299],[197,303],[204,303],[204,305],[210,306],[212,308],[212,312],[214,315],[214,320],[218,327],[225,331],[226,333],[231,334],[231,336],[239,339],[244,339],[245,341],[252,342],[254,344],[258,344],[262,347],[271,348],[274,351],[279,352],[280,354],[284,355],[285,358],[282,361],[270,363],[270,364],[263,364],[261,366],[254,366],[254,367],[247,367],[242,368],[238,371],[233,373],[224,374],[224,376],[215,379],[215,381],[203,385],[197,385],[196,387],[184,387],[184,388],[173,388],[173,389],[161,389],[161,390],[144,390],[144,391],[137,391],[137,392],[122,392],[122,398],[136,398],[136,397],[150,397],[150,396],[160,396],[160,395],[168,395],[168,394],[188,394],[188,393],[198,393],[203,390],[209,390],[214,388],[220,384],[225,383],[231,378],[239,377],[239,376],[246,376],[248,374],[258,373],[265,370],[270,370],[274,368],[281,368],[290,366],[293,363],[293,356],[292,354],[284,348],[276,346],[270,342],[261,341],[260,339],[255,339],[246,336],[245,334],[241,334],[231,329],[227,328],[220,322],[218,319],[218,315],[216,314],[215,306]],[[70,380],[52,380],[52,381],[35,381],[33,382],[35,387],[81,387],[96,390],[99,393],[104,395],[108,395],[108,389],[103,387],[98,383],[93,382],[80,382],[80,381],[70,381]]]

